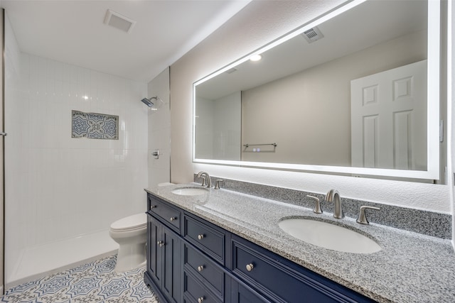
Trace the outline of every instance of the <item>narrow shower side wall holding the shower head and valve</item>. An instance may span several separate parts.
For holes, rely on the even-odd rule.
[[[148,133],[149,133],[149,187],[156,186],[161,182],[171,180],[171,112],[169,104],[169,68],[166,68],[148,84],[148,93],[144,97],[159,97],[163,104],[159,110],[149,110]],[[144,104],[142,105],[144,108]],[[159,150],[159,158],[151,155],[156,149]]]

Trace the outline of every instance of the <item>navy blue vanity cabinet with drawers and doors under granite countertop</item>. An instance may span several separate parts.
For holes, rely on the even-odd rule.
[[[163,302],[374,302],[158,197],[148,196],[144,280]]]

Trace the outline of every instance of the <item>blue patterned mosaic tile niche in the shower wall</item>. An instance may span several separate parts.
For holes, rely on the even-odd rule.
[[[119,138],[119,116],[71,111],[73,138]]]

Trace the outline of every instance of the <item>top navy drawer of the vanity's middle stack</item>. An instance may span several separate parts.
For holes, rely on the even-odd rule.
[[[185,216],[184,238],[219,263],[225,263],[225,231]]]

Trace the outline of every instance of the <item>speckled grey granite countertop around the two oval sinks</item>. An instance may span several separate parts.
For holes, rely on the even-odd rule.
[[[199,187],[176,184],[146,189],[161,199],[318,272],[378,302],[455,302],[455,253],[451,241],[397,228],[334,219],[332,209],[311,209],[227,189],[183,196],[173,189]],[[343,253],[296,239],[279,228],[283,218],[308,217],[328,221],[373,238],[376,253]]]

